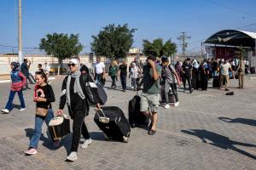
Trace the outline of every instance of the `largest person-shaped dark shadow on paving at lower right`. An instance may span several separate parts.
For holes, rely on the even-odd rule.
[[[219,148],[222,148],[224,150],[227,150],[227,149],[234,150],[244,156],[248,156],[253,159],[256,159],[256,156],[253,156],[252,154],[250,154],[244,150],[236,148],[236,146],[235,146],[235,145],[241,145],[241,146],[247,146],[247,147],[256,147],[256,145],[254,145],[254,144],[246,144],[246,143],[236,142],[236,141],[233,141],[233,140],[229,139],[228,137],[225,137],[218,133],[212,133],[210,131],[203,130],[203,129],[181,130],[181,132],[187,133],[190,135],[194,135],[194,136],[200,138],[203,143],[212,144],[212,145],[218,146]],[[212,141],[212,143],[207,142],[207,140]]]

